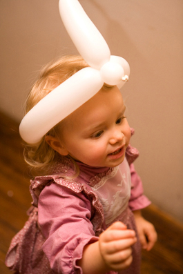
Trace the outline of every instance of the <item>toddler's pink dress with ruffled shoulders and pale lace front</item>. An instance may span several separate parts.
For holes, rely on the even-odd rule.
[[[74,174],[73,163],[64,157],[52,175],[32,180],[30,217],[12,239],[6,256],[10,270],[24,274],[82,273],[77,260],[84,246],[97,241],[110,224],[119,220],[136,231],[132,211],[150,204],[132,164],[137,156],[137,150],[128,146],[128,163],[125,159],[116,168],[77,163],[80,173],[76,179],[61,177]],[[133,263],[119,273],[140,273],[140,253],[138,241],[133,246]]]

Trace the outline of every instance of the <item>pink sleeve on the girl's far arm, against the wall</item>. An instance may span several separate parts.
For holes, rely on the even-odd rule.
[[[131,168],[131,198],[129,200],[129,207],[132,211],[137,211],[139,209],[149,206],[151,202],[144,195],[144,190],[142,186],[142,181],[137,175],[134,165],[130,165]]]

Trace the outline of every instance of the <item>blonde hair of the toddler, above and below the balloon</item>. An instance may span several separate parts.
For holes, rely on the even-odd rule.
[[[87,66],[86,61],[77,55],[61,57],[55,62],[48,63],[48,65],[41,70],[39,79],[35,82],[32,90],[30,90],[26,100],[25,112],[27,113],[41,99],[48,95],[48,93],[66,81],[66,79]],[[57,125],[49,130],[46,135],[56,137]],[[24,159],[26,162],[32,169],[39,170],[42,174],[46,174],[46,171],[48,172],[50,166],[57,162],[58,157],[61,156],[46,143],[45,136],[37,144],[26,144],[24,148]],[[75,170],[77,170],[76,164]]]

